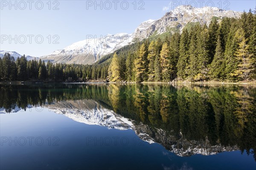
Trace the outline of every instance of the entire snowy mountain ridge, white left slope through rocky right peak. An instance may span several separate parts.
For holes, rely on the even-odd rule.
[[[192,6],[179,6],[167,12],[159,20],[147,20],[141,23],[132,34],[115,34],[96,39],[87,39],[75,42],[63,50],[41,57],[44,60],[59,63],[92,64],[106,54],[150,36],[165,32],[182,31],[189,23],[207,25],[213,18],[221,20],[223,17],[240,17],[241,12],[225,11],[215,7],[194,8]]]

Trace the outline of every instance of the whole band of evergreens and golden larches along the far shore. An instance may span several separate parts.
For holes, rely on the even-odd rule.
[[[0,59],[0,80],[56,82],[252,81],[256,79],[256,14],[194,25],[164,38],[149,37],[120,48],[93,65]]]

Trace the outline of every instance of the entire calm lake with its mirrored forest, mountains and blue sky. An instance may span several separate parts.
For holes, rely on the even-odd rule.
[[[255,85],[0,85],[0,169],[256,169]]]

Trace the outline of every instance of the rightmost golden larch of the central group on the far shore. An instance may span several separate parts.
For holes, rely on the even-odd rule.
[[[169,45],[167,42],[163,43],[162,50],[160,52],[160,65],[161,65],[161,74],[164,82],[170,81],[169,74]]]

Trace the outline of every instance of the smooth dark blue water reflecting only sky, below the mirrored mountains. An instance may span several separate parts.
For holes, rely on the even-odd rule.
[[[87,125],[47,107],[1,113],[0,137],[1,170],[256,169],[246,151],[177,156],[163,143],[143,141],[133,129]]]

